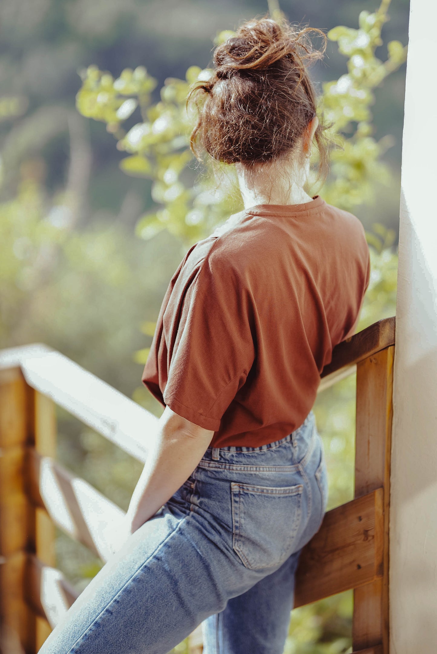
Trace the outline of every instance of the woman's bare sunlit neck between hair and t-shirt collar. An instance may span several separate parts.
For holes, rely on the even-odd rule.
[[[244,208],[260,204],[292,205],[311,202],[304,191],[307,170],[274,165],[248,169],[237,165],[237,176]],[[293,181],[290,181],[293,180]]]

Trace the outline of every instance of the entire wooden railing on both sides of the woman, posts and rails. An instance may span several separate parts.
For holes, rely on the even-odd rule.
[[[386,318],[336,346],[323,370],[319,392],[357,371],[355,499],[326,513],[296,577],[294,606],[354,589],[353,649],[360,654],[388,654],[393,356],[394,318]],[[77,597],[55,567],[54,525],[105,561],[124,516],[56,462],[55,404],[141,462],[158,420],[43,345],[0,353],[3,654],[37,652]]]

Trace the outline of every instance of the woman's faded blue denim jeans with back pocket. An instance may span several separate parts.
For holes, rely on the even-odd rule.
[[[281,654],[302,547],[326,511],[315,416],[262,447],[209,448],[90,581],[41,654]]]

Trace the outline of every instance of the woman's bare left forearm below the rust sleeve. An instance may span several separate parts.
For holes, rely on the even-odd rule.
[[[126,514],[124,526],[128,526],[130,533],[147,522],[183,485],[213,436],[213,431],[188,421],[166,406]],[[120,538],[126,542],[122,534]]]

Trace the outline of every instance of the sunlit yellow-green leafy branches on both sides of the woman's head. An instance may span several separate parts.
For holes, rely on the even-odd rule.
[[[337,41],[341,54],[347,57],[347,73],[324,82],[319,99],[319,113],[330,125],[327,135],[335,147],[330,176],[318,192],[343,209],[353,210],[371,201],[377,184],[389,182],[389,168],[381,156],[391,145],[391,137],[374,139],[370,112],[374,88],[406,59],[406,48],[399,41],[387,44],[387,60],[376,57],[388,6],[389,0],[383,0],[376,12],[362,11],[358,29],[340,26],[328,32],[328,39]],[[216,43],[229,35],[229,31],[218,34]],[[142,238],[149,239],[166,229],[189,245],[210,233],[232,211],[241,209],[232,166],[211,165],[206,159],[196,179],[187,174],[192,173],[193,166],[188,139],[195,109],[186,110],[186,97],[192,84],[211,75],[209,69],[191,66],[185,80],[167,78],[158,103],[150,101],[156,80],[143,66],[124,69],[118,78],[94,65],[80,75],[77,109],[84,116],[105,122],[117,139],[118,150],[130,154],[120,161],[125,173],[152,179],[152,198],[158,206],[139,219],[137,233]],[[125,131],[124,122],[137,106],[142,120]],[[311,193],[316,190],[316,148],[313,163]]]

